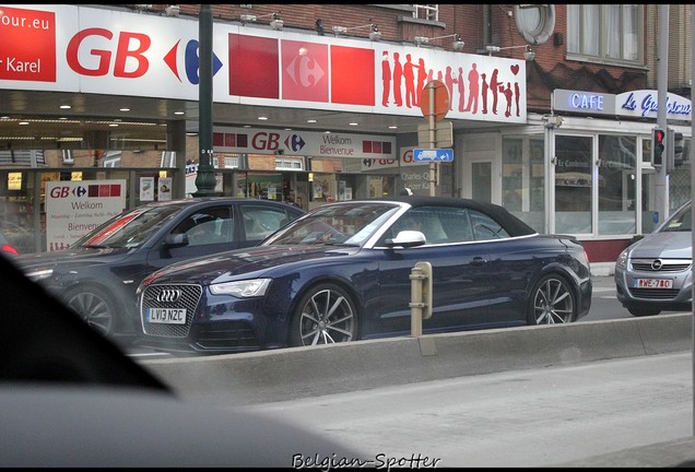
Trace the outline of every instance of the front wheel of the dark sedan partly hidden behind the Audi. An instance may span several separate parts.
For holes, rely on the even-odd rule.
[[[116,305],[106,291],[97,286],[79,287],[69,291],[63,298],[90,328],[105,337],[114,334]]]

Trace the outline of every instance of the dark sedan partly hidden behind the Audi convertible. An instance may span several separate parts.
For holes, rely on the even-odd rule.
[[[278,201],[210,197],[146,203],[123,212],[69,249],[15,256],[97,332],[130,341],[140,329],[136,290],[169,263],[257,245],[304,214]]]

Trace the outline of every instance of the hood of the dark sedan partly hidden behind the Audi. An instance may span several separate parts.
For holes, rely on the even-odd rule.
[[[89,248],[78,247],[52,252],[20,255],[12,261],[23,271],[50,269],[58,266],[91,266],[113,263],[126,258],[132,248]]]

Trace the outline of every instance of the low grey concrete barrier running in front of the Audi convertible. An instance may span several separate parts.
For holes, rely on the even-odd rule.
[[[688,351],[692,319],[660,315],[140,363],[181,398],[239,405]]]

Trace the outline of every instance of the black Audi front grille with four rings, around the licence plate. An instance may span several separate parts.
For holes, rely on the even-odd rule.
[[[150,285],[142,294],[140,318],[145,334],[186,338],[202,296],[200,285]],[[153,323],[148,321],[150,308],[185,308],[185,324]]]

